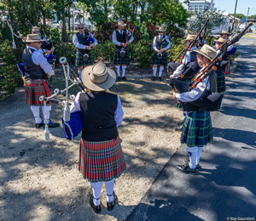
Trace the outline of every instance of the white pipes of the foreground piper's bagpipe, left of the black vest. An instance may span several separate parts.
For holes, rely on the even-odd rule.
[[[68,106],[70,104],[68,104],[68,99],[72,99],[72,100],[75,99],[74,95],[68,94],[68,89],[72,88],[74,85],[78,85],[82,92],[86,92],[86,88],[84,86],[84,83],[80,80],[80,78],[76,75],[76,73],[70,68],[70,66],[68,65],[67,59],[65,57],[61,57],[59,59],[59,62],[62,65],[62,68],[64,70],[66,88],[63,90],[55,88],[53,95],[51,95],[49,97],[41,96],[39,98],[39,100],[44,101],[44,110],[46,110],[46,102],[51,102],[51,103],[55,103],[55,104],[64,106],[62,122],[63,122],[64,133],[67,134],[65,129],[68,129],[68,127],[67,127],[68,122],[70,122],[71,116],[73,117],[73,114],[70,114],[70,109]],[[68,85],[68,82],[72,82],[72,84]],[[60,99],[54,99],[55,96],[57,96],[57,95],[65,96],[66,99],[62,100],[62,101]],[[45,111],[45,116],[44,116],[45,122],[46,122],[46,119],[47,119],[47,117],[46,117],[46,111]],[[66,124],[65,127],[64,127],[64,124]],[[47,124],[45,124],[44,139],[45,139],[45,141],[49,141],[49,128],[48,128]]]

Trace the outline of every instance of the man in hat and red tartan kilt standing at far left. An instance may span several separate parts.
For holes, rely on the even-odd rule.
[[[48,76],[54,74],[51,65],[44,58],[44,55],[38,50],[41,47],[41,38],[38,34],[27,35],[23,42],[26,42],[26,49],[22,54],[22,62],[25,69],[25,93],[26,104],[31,106],[33,116],[35,118],[35,127],[43,127],[45,123],[48,127],[58,127],[59,123],[52,122],[49,118],[49,111],[51,111],[51,105],[46,106],[47,122],[42,121],[39,114],[39,106],[42,106],[43,116],[44,102],[39,101],[40,96],[49,97],[49,87],[47,85]],[[43,40],[44,41],[44,40]]]

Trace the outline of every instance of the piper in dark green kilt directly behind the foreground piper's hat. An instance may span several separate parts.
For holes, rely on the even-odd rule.
[[[88,30],[84,32],[84,25],[82,23],[78,26],[79,32],[73,35],[73,45],[77,48],[76,51],[76,66],[79,67],[79,77],[81,78],[82,70],[86,65],[92,65],[92,57],[90,50],[92,47],[95,47],[97,41],[90,34]],[[94,42],[90,42],[90,39],[93,39]],[[84,56],[85,55],[85,56]],[[87,60],[85,60],[85,58]]]

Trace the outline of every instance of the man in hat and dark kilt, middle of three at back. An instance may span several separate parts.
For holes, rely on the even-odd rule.
[[[126,65],[130,65],[130,55],[127,46],[134,40],[134,37],[131,35],[131,32],[127,29],[124,30],[125,26],[126,24],[124,24],[124,21],[119,21],[118,29],[113,31],[112,35],[112,41],[115,45],[113,54],[113,64],[115,65],[117,71],[118,81],[121,80],[120,65],[122,66],[122,80],[126,81]]]

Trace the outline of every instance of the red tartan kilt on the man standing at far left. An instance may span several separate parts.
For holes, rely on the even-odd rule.
[[[44,105],[44,101],[40,101],[39,97],[49,97],[49,87],[46,80],[25,80],[26,104],[28,105]],[[50,104],[49,102],[46,102]]]

